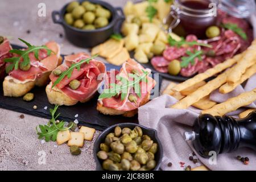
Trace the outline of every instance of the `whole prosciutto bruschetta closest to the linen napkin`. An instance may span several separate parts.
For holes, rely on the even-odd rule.
[[[150,69],[144,69],[133,59],[123,63],[120,71],[108,72],[97,110],[106,115],[133,117],[138,113],[138,107],[149,101],[150,92],[156,84],[150,73]]]

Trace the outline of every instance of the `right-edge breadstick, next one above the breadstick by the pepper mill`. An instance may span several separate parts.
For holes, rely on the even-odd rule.
[[[247,80],[248,78],[253,76],[255,73],[256,73],[256,64],[254,64],[250,68],[246,69],[245,74],[243,74],[242,77],[240,78],[240,80],[238,80],[237,82],[234,82],[232,84],[226,83],[225,85],[222,85],[219,89],[220,93],[225,94],[225,93],[231,92],[238,85],[242,84],[245,80]]]

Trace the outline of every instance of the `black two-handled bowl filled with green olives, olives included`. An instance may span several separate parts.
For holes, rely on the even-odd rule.
[[[52,11],[54,23],[64,28],[65,36],[79,47],[94,47],[119,31],[125,19],[121,7],[98,0],[72,1],[60,11]]]

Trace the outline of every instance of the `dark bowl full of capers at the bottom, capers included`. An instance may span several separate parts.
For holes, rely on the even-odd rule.
[[[93,153],[96,170],[157,171],[163,147],[156,130],[136,123],[119,123],[98,136]]]

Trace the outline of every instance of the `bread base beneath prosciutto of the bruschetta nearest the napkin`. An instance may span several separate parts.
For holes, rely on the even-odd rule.
[[[150,98],[150,93],[148,93],[147,97],[145,97],[139,106],[142,106],[146,104],[149,101]],[[138,109],[134,110],[129,110],[129,111],[122,111],[122,110],[117,110],[109,107],[105,107],[100,102],[97,103],[97,110],[100,111],[100,113],[105,114],[105,115],[123,115],[124,117],[134,117],[135,114],[138,113]]]

